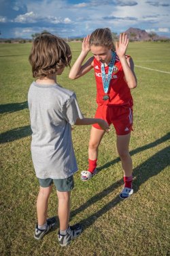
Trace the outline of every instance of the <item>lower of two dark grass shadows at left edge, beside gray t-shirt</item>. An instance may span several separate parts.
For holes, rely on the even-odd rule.
[[[32,134],[30,126],[23,126],[0,134],[0,143],[6,143],[30,136]]]

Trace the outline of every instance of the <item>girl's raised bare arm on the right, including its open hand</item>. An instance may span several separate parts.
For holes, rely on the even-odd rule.
[[[119,43],[116,42],[116,53],[122,63],[122,68],[124,71],[124,79],[126,80],[127,85],[130,89],[133,89],[137,86],[137,78],[134,72],[134,63],[133,59],[126,59],[125,53],[126,48],[129,44],[129,39],[125,33],[120,34]]]

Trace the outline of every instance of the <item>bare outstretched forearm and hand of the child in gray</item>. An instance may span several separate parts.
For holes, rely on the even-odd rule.
[[[107,124],[107,122],[105,122],[105,120],[103,119],[99,119],[99,118],[78,118],[75,122],[76,126],[87,126],[90,124],[99,124],[99,126],[101,126],[101,128],[103,130],[105,130],[105,132],[109,132],[109,126]]]

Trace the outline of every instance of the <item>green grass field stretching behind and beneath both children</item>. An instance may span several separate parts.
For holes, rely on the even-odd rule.
[[[169,256],[170,74],[154,70],[170,72],[170,44],[129,44],[128,53],[137,65],[138,79],[137,88],[132,91],[135,105],[130,151],[135,193],[131,199],[122,201],[118,197],[123,172],[114,128],[105,134],[99,148],[99,174],[85,183],[80,180],[80,171],[87,167],[90,126],[74,128],[79,171],[75,173],[71,195],[70,223],[82,223],[83,232],[67,248],[58,245],[58,230],[40,242],[33,238],[39,184],[30,152],[30,48],[31,44],[0,44],[0,255]],[[71,48],[74,61],[81,44],[71,43]],[[58,77],[58,83],[75,91],[82,113],[93,117],[97,106],[93,72],[77,81],[69,80],[68,73],[69,68]],[[53,190],[48,215],[57,216],[56,208]]]

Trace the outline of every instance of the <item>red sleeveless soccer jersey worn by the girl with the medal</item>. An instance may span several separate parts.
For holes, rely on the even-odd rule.
[[[130,57],[127,56],[126,57]],[[129,89],[126,81],[124,81],[124,72],[120,59],[116,55],[116,61],[114,63],[114,70],[112,72],[112,79],[109,83],[109,90],[107,95],[109,100],[103,100],[105,95],[103,89],[103,81],[101,77],[101,62],[94,58],[94,70],[95,79],[97,84],[97,104],[117,105],[117,106],[133,106],[133,98],[131,96],[131,90]],[[109,66],[105,67],[105,74],[107,76]]]

